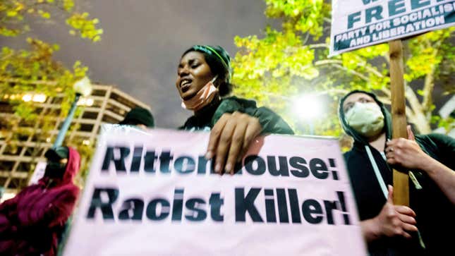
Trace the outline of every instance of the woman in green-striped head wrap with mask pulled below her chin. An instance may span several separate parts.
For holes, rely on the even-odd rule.
[[[222,47],[195,45],[181,56],[176,87],[182,106],[193,111],[181,127],[211,130],[207,159],[216,156],[215,171],[233,173],[233,166],[260,134],[293,134],[272,110],[254,101],[228,97],[232,90],[231,58]]]

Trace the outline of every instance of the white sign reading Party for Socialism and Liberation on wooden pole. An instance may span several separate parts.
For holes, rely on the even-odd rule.
[[[330,56],[455,25],[455,0],[333,0]]]

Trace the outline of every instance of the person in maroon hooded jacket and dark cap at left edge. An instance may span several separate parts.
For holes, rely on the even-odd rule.
[[[46,152],[43,178],[0,205],[0,255],[56,255],[58,236],[78,199],[80,156],[71,147]]]

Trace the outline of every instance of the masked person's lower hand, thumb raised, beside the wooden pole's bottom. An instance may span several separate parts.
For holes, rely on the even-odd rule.
[[[417,231],[415,212],[403,205],[394,205],[393,188],[389,185],[387,202],[380,214],[373,219],[362,221],[361,226],[365,239],[370,242],[382,236],[403,236],[411,238],[408,232]]]

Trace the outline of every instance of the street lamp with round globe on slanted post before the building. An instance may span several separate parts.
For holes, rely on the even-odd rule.
[[[80,96],[87,97],[92,93],[92,85],[90,84],[90,80],[87,77],[82,78],[74,83],[73,88],[75,90],[75,98],[73,104],[71,104],[71,109],[68,113],[68,116],[66,116],[65,121],[63,122],[63,126],[61,126],[61,129],[59,130],[59,135],[57,135],[57,138],[53,145],[54,148],[61,146],[63,143],[65,134],[70,127],[71,120],[73,120],[75,109],[77,107]]]

